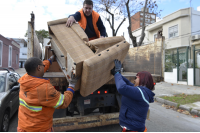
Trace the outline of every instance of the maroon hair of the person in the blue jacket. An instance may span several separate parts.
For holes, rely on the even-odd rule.
[[[149,72],[141,71],[141,72],[137,73],[136,76],[139,76],[139,78],[140,78],[139,85],[146,86],[150,90],[154,89],[153,77],[151,76],[151,74]]]

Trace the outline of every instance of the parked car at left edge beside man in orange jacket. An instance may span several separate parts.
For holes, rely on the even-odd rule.
[[[10,118],[18,110],[19,78],[13,68],[0,68],[0,132],[8,131]]]

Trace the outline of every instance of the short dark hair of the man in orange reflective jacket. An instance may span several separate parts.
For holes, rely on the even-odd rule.
[[[31,57],[25,62],[25,69],[28,75],[33,74],[36,71],[38,65],[41,65],[42,61],[37,57]]]

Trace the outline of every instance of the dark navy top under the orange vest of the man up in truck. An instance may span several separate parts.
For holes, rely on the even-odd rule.
[[[74,16],[74,19],[78,22],[81,19],[81,14],[80,12],[76,12],[73,15],[70,16]],[[87,34],[88,38],[92,38],[96,36],[96,33],[94,31],[94,27],[93,27],[93,23],[92,23],[92,15],[90,16],[85,16],[87,19],[87,25],[86,25],[86,29],[85,29],[85,33]],[[101,17],[99,16],[99,19],[97,21],[97,27],[100,31],[101,36],[106,36],[106,29],[103,25],[103,22],[101,20]]]

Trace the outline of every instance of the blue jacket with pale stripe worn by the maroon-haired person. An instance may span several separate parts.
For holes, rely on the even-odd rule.
[[[143,132],[149,104],[154,102],[154,93],[145,86],[134,87],[120,73],[115,74],[115,84],[122,95],[119,124],[132,131]]]

